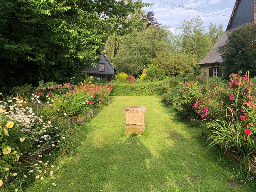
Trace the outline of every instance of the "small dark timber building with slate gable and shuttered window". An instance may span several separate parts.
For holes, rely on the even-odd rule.
[[[95,78],[108,79],[115,78],[115,72],[117,69],[110,63],[105,54],[101,54],[100,63],[97,63],[97,67],[90,65],[86,72]]]

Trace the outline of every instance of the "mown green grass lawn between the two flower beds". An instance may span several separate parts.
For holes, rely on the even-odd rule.
[[[123,108],[132,104],[147,108],[146,131],[137,136],[125,135]],[[245,184],[230,182],[221,156],[204,152],[195,139],[202,130],[172,120],[171,114],[160,96],[111,97],[84,126],[79,156],[59,157],[55,178],[44,185],[37,181],[28,191],[246,191]]]

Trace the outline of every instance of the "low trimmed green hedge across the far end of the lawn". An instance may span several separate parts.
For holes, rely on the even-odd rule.
[[[135,84],[115,84],[111,96],[162,95],[169,89],[166,82],[143,82]]]

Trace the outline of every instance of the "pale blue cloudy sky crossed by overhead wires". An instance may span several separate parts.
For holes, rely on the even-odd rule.
[[[157,22],[169,26],[172,32],[179,27],[181,21],[188,20],[188,16],[189,19],[200,16],[204,21],[204,26],[208,26],[211,21],[216,25],[222,23],[226,31],[236,0],[142,0],[142,2],[154,3],[153,6],[143,7],[143,10],[153,11]],[[187,8],[179,7],[180,5]],[[205,29],[207,30],[208,27]]]

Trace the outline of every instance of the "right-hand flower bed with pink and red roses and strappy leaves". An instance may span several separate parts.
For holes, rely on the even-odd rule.
[[[254,84],[248,75],[231,74],[230,81],[216,78],[205,84],[180,82],[164,94],[179,114],[210,122],[207,126],[208,147],[221,148],[238,154],[250,172],[256,164],[256,98]],[[253,165],[254,166],[254,165]]]

